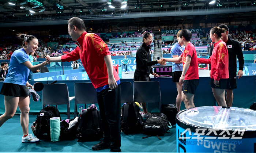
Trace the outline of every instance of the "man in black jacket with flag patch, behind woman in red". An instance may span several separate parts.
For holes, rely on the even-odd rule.
[[[225,28],[225,32],[222,33],[221,39],[226,43],[227,45],[227,51],[229,52],[229,82],[230,87],[229,89],[226,89],[226,103],[227,107],[231,107],[233,103],[233,89],[237,88],[237,80],[236,76],[238,76],[238,79],[240,79],[243,76],[243,69],[244,69],[244,55],[242,52],[241,44],[233,39],[230,39],[227,37],[229,34],[229,28],[225,24],[219,25],[220,28]],[[212,54],[213,45],[211,46],[210,56]],[[237,72],[237,59],[239,62],[239,70]],[[209,68],[211,70],[211,65],[209,65]],[[237,73],[236,73],[237,72]]]

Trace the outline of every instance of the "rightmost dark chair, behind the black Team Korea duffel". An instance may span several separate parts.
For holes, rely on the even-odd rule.
[[[161,112],[161,91],[159,81],[133,82],[133,99],[139,103],[159,103]]]

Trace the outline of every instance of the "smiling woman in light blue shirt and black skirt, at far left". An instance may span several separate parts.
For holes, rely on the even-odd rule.
[[[38,142],[39,139],[29,135],[29,93],[27,87],[33,87],[27,82],[29,71],[38,70],[49,62],[32,65],[29,53],[38,48],[38,40],[33,35],[19,34],[23,41],[23,48],[15,50],[11,56],[8,73],[4,80],[0,94],[4,95],[5,113],[0,116],[0,127],[12,118],[17,106],[20,110],[20,125],[23,131],[22,142]]]

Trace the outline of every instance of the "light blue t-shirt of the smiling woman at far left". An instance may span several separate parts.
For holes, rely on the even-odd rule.
[[[26,61],[30,61],[30,59],[25,49],[21,48],[19,50],[15,50],[11,56],[8,73],[5,77],[4,83],[26,85],[30,71],[22,64]]]

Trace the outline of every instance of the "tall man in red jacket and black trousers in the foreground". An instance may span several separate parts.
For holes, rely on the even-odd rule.
[[[68,34],[76,40],[76,49],[59,57],[46,57],[50,62],[76,61],[79,58],[91,83],[97,90],[99,111],[101,113],[104,139],[92,146],[93,150],[110,148],[110,152],[121,152],[120,78],[113,67],[108,45],[94,34],[85,31],[82,19],[77,17],[68,20]]]

